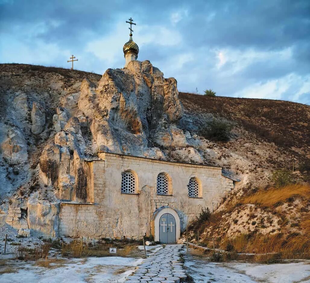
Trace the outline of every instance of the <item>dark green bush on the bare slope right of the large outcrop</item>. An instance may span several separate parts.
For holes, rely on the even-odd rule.
[[[213,119],[202,129],[201,135],[212,141],[228,141],[230,130],[229,124]]]

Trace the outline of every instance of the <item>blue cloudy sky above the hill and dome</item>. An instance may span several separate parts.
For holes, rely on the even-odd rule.
[[[309,0],[0,0],[0,63],[123,67],[129,17],[138,60],[179,91],[310,104]]]

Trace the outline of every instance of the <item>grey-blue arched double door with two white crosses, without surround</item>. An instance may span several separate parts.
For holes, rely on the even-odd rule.
[[[170,213],[165,213],[159,220],[159,241],[162,244],[175,243],[175,218]]]

